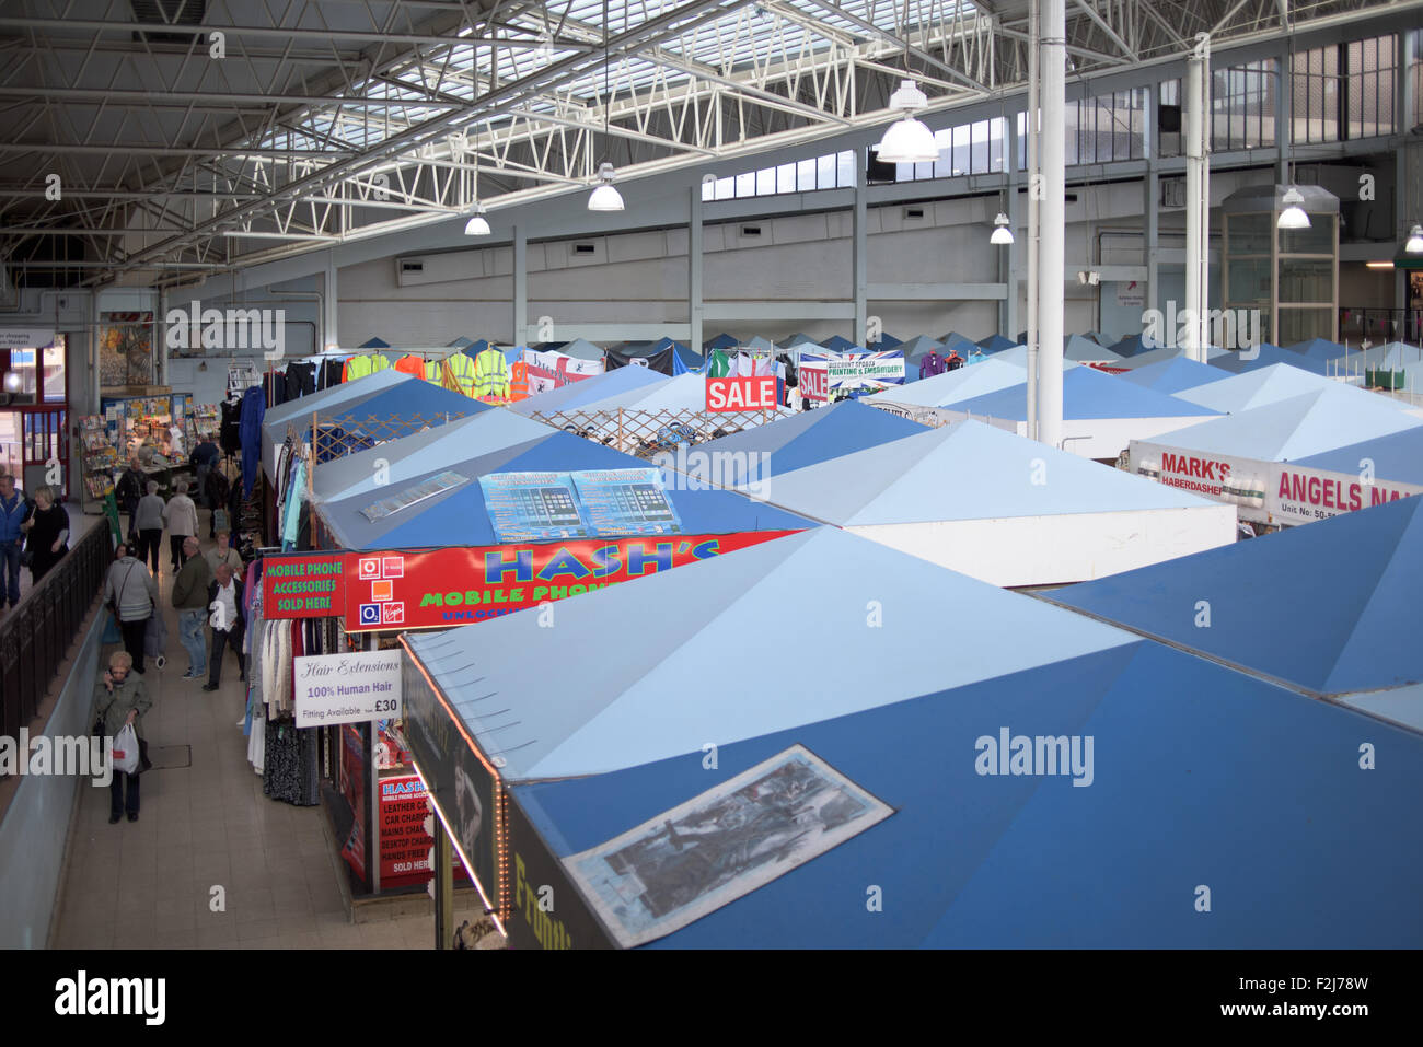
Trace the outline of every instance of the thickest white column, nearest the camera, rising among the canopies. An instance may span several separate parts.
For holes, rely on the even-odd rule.
[[[1042,245],[1037,273],[1037,440],[1062,447],[1066,269],[1067,3],[1043,0]]]

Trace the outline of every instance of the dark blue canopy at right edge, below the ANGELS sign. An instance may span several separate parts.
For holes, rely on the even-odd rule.
[[[1321,694],[1423,683],[1420,505],[1345,512],[1050,599]]]

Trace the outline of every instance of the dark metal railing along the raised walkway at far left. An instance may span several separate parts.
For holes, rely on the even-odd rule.
[[[108,526],[90,528],[20,606],[0,619],[0,735],[18,737],[38,714],[112,559]]]

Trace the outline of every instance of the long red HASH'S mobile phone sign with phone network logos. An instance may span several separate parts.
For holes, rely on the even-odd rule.
[[[346,630],[448,629],[484,622],[790,533],[794,532],[585,538],[545,545],[349,553]]]

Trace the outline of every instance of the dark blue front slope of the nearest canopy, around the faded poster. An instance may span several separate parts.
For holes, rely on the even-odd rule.
[[[676,689],[659,697],[649,718],[687,723]],[[995,764],[1003,734],[1026,755],[1020,774]],[[1377,770],[1359,771],[1360,737],[1389,753]],[[1076,745],[1086,768],[1089,738],[1103,764],[1079,788],[1087,771],[1049,770],[1046,754]],[[515,782],[536,839],[514,846],[566,869],[791,745],[894,814],[650,947],[1339,949],[1416,947],[1423,933],[1423,740],[1150,642],[729,740],[714,770],[682,741],[657,762]],[[679,866],[693,885],[699,842]],[[706,878],[726,865],[741,868]],[[1200,883],[1215,892],[1208,915]],[[573,903],[589,906],[586,889]],[[514,935],[529,942],[522,919]]]

